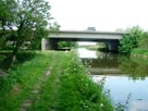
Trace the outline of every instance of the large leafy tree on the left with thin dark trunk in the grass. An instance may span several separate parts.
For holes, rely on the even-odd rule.
[[[11,41],[14,60],[24,45],[27,44],[33,48],[42,37],[48,37],[49,28],[52,27],[49,23],[52,18],[49,13],[49,2],[46,0],[1,0],[1,5],[3,9],[3,12],[0,12],[1,37],[4,36]],[[52,29],[58,28],[59,25]]]

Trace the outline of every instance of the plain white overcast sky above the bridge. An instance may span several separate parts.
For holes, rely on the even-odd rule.
[[[139,25],[148,29],[148,0],[49,0],[61,29],[115,30]]]

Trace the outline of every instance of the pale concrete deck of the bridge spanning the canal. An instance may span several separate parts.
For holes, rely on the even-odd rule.
[[[125,33],[114,32],[92,32],[92,30],[60,30],[59,33],[50,33],[49,38],[59,39],[122,39]]]

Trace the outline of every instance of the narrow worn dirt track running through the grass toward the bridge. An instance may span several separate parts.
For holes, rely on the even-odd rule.
[[[49,75],[51,74],[52,69],[54,67],[57,54],[57,52],[52,53],[52,61],[50,65],[48,66],[47,71],[39,76],[38,82],[34,86],[33,90],[29,91],[28,97],[22,102],[21,107],[18,108],[18,111],[27,111],[28,108],[30,108],[36,101],[40,99],[40,88],[46,84],[47,79],[49,78]]]

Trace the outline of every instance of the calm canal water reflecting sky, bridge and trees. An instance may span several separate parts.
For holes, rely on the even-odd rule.
[[[85,48],[77,51],[91,78],[104,78],[104,88],[110,90],[114,104],[125,106],[126,111],[148,111],[148,60]]]

